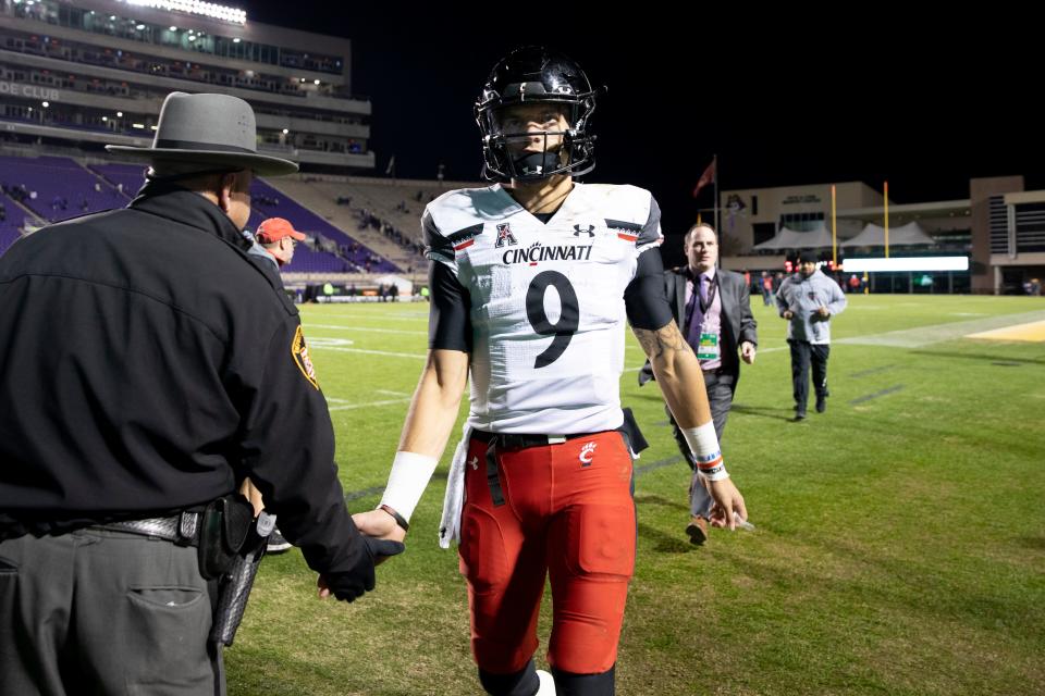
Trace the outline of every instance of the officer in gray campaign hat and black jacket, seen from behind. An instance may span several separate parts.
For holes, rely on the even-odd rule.
[[[0,258],[0,693],[223,693],[201,510],[249,475],[340,599],[402,546],[349,518],[297,311],[241,235],[254,173],[297,165],[223,95],[110,150],[151,163],[126,209]]]

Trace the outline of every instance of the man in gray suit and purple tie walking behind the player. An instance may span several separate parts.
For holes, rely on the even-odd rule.
[[[740,360],[748,364],[754,362],[759,343],[757,323],[751,315],[751,296],[743,276],[715,268],[718,235],[714,228],[706,223],[693,225],[686,233],[685,249],[687,264],[664,272],[664,290],[675,321],[700,360],[711,417],[721,443],[740,378]],[[639,372],[639,385],[652,378],[653,372],[647,362]],[[700,545],[708,539],[712,499],[696,472],[697,461],[686,438],[669,412],[667,417],[678,448],[693,470],[686,533],[692,544]]]

